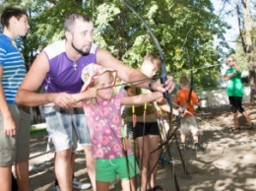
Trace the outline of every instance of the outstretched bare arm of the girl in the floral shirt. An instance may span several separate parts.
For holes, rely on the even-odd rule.
[[[145,102],[154,101],[158,98],[162,97],[162,93],[155,92],[151,94],[143,94],[138,96],[124,96],[122,98],[122,104],[126,105],[138,105],[143,104]]]

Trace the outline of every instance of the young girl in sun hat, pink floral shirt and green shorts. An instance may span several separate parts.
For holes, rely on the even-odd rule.
[[[125,96],[125,91],[113,91],[116,71],[90,64],[83,69],[85,83],[80,94],[90,128],[93,156],[96,159],[96,190],[106,191],[116,175],[124,191],[135,191],[134,176],[139,169],[131,148],[122,135],[121,106],[143,104],[162,97],[155,92],[140,96]]]

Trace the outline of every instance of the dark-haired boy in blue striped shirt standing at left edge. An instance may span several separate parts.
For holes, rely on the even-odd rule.
[[[30,108],[18,105],[15,96],[26,75],[24,58],[15,39],[30,29],[28,15],[15,7],[1,14],[3,33],[0,34],[0,185],[12,188],[12,165],[15,163],[20,191],[30,190]],[[15,179],[14,179],[15,180]]]

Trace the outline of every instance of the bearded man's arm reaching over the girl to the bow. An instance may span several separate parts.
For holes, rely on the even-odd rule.
[[[98,48],[96,52],[96,62],[103,67],[117,70],[118,77],[123,81],[134,82],[142,80],[142,82],[134,82],[132,84],[137,87],[149,89],[150,80],[147,81],[147,79],[149,79],[147,76],[139,70],[124,65],[121,61],[114,58],[108,51]],[[146,80],[146,82],[143,80]],[[160,80],[152,85],[154,90],[162,93],[165,92],[165,90],[171,92],[174,87],[175,84],[172,82],[172,77],[170,76],[167,77],[165,82],[165,89],[163,89],[163,85],[160,84]]]

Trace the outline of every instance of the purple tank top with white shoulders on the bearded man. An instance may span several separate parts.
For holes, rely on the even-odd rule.
[[[82,56],[76,61],[67,57],[65,40],[57,41],[43,49],[49,61],[49,72],[43,84],[43,93],[79,93],[83,86],[81,73],[85,66],[96,63],[96,44],[93,44],[90,54]]]

